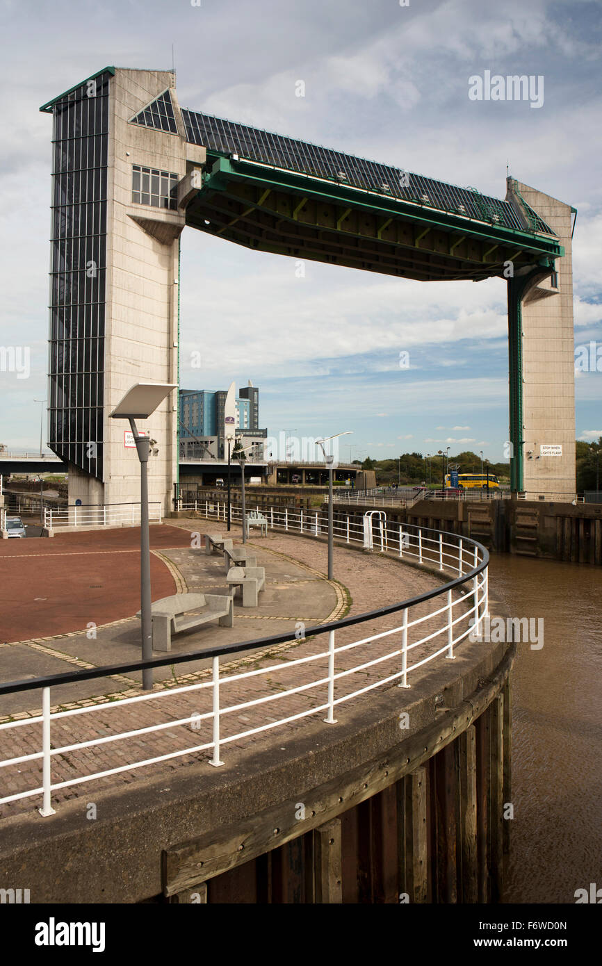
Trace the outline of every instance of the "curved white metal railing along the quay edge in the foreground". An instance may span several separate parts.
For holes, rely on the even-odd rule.
[[[223,520],[223,504],[203,503],[200,512],[207,519]],[[195,509],[198,513],[198,505]],[[308,535],[326,532],[325,515],[320,511],[270,508],[264,511],[264,515],[272,529]],[[232,516],[233,519],[240,517],[237,508],[232,508]],[[223,764],[223,749],[229,744],[317,714],[323,715],[326,724],[335,725],[335,709],[346,702],[387,684],[410,688],[409,681],[418,668],[440,658],[453,659],[458,645],[472,633],[478,633],[488,612],[487,551],[467,537],[387,522],[384,512],[366,515],[366,518],[367,524],[364,519],[357,521],[349,516],[335,521],[335,535],[346,543],[371,546],[399,558],[435,567],[445,576],[446,582],[399,604],[345,617],[332,624],[303,628],[301,640],[297,634],[286,634],[245,641],[236,651],[222,658],[228,662],[252,649],[254,667],[250,670],[224,671],[220,668],[218,651],[197,652],[199,659],[211,658],[211,676],[169,690],[52,712],[51,687],[44,683],[47,679],[38,678],[26,684],[2,684],[0,699],[3,694],[42,688],[43,708],[36,717],[0,725],[0,771],[17,769],[10,776],[13,778],[11,794],[3,793],[0,805],[42,796],[40,811],[43,816],[48,816],[54,813],[53,793],[82,782],[130,772],[191,753],[211,753],[210,763],[218,766]],[[365,636],[358,635],[356,629],[365,621],[370,622],[370,632]],[[375,629],[377,622],[381,622],[379,629]],[[328,634],[328,644],[323,643],[324,634]],[[273,662],[267,656],[264,659],[267,665],[257,667],[257,662],[261,661],[257,655],[258,647],[265,645],[269,650],[275,643],[286,641],[296,644],[301,651],[291,652],[292,659],[286,661]],[[186,655],[173,654],[155,666],[189,662],[190,657],[189,652]],[[141,663],[124,666],[128,670],[142,667]],[[311,675],[307,674],[307,668],[314,668]],[[62,693],[67,683],[96,678],[101,670],[95,668],[62,675]],[[120,667],[116,666],[106,669],[110,674],[119,670]],[[246,682],[250,687],[245,695],[241,685]],[[263,691],[260,691],[260,685]],[[316,705],[316,693],[320,691],[324,697],[322,700],[318,698]],[[294,699],[292,705],[290,699]],[[64,704],[64,697],[61,701]],[[281,712],[277,710],[278,702],[284,704]],[[140,726],[140,720],[135,720],[138,705],[144,709],[155,708],[158,713],[162,708],[161,720],[147,724],[150,718],[145,711],[144,726]],[[134,712],[133,718],[128,717],[130,711]],[[99,724],[95,725],[95,722]],[[113,730],[107,734],[111,722],[114,723]],[[41,739],[39,725],[42,725]],[[15,746],[19,751],[18,728],[26,729],[22,745],[24,753],[15,755]],[[73,728],[77,733],[73,733]],[[5,735],[8,746],[3,755]],[[72,737],[78,740],[71,740]],[[133,741],[132,750],[124,753],[124,743],[129,739]],[[32,744],[35,747],[36,740],[40,750],[32,753],[28,750]],[[88,750],[113,743],[118,743],[120,751],[112,760],[109,756],[102,762],[107,767],[100,770],[93,767],[89,771]],[[79,754],[84,750],[85,754]],[[136,753],[142,757],[136,758]],[[65,781],[52,780],[52,764],[57,757],[67,761],[72,768],[72,774]]]

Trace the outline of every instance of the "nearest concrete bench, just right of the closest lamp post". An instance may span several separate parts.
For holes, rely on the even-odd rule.
[[[202,613],[190,613],[205,608]],[[234,625],[234,601],[226,594],[174,594],[152,605],[153,650],[170,651],[172,634],[218,620],[221,627]],[[138,611],[137,616],[140,616]]]

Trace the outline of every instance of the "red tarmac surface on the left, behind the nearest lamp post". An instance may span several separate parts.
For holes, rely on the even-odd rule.
[[[151,526],[151,550],[189,547],[177,526]],[[175,593],[151,554],[153,600]],[[0,540],[0,642],[85,630],[140,610],[140,528]]]

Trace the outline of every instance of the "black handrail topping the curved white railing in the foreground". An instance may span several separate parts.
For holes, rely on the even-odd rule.
[[[410,597],[408,600],[401,601],[399,604],[389,604],[387,607],[377,608],[375,611],[365,611],[364,613],[356,614],[355,617],[342,617],[341,620],[330,621],[328,624],[320,624],[318,627],[310,627],[304,632],[305,638],[317,637],[319,634],[328,634],[330,631],[336,631],[343,627],[353,627],[354,624],[361,624],[366,620],[384,617],[388,613],[395,613],[396,611],[404,611],[406,608],[415,607],[417,604],[422,604],[424,601],[432,600],[433,597],[438,597],[440,594],[453,590],[455,587],[461,586],[463,583],[472,581],[473,578],[481,574],[489,564],[489,551],[487,548],[482,544],[479,544],[478,541],[472,540],[470,537],[461,537],[457,533],[450,533],[446,530],[435,530],[432,527],[427,526],[420,527],[416,526],[415,524],[407,524],[403,526],[412,526],[415,529],[420,529],[430,533],[437,533],[438,535],[441,533],[443,536],[453,537],[458,541],[458,543],[460,540],[462,540],[466,544],[477,547],[482,552],[483,559],[477,567],[474,567],[473,570],[470,571],[470,573],[462,577],[456,577],[453,581],[442,584],[441,587],[436,587],[434,590],[427,590],[425,593],[418,594],[417,597]],[[427,560],[426,562],[435,563],[436,561]],[[16,692],[21,691],[34,691],[38,688],[51,688],[59,684],[72,684],[77,681],[90,681],[97,677],[110,677],[113,674],[122,674],[131,670],[165,668],[169,665],[185,664],[187,661],[199,661],[205,658],[222,657],[225,654],[244,653],[244,651],[250,651],[257,647],[282,644],[287,640],[290,641],[293,637],[294,636],[292,636],[290,632],[288,634],[274,634],[268,638],[244,640],[242,643],[217,644],[216,647],[207,648],[206,650],[188,651],[186,654],[174,654],[167,658],[152,658],[150,661],[132,661],[128,664],[104,665],[102,668],[94,668],[92,670],[83,668],[81,670],[72,671],[71,673],[66,672],[64,674],[49,674],[45,677],[28,678],[27,680],[23,681],[7,681],[5,684],[0,684],[0,696],[13,695]]]

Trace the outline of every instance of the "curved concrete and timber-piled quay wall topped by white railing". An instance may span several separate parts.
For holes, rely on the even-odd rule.
[[[221,514],[219,507],[214,514]],[[208,505],[202,516],[214,514]],[[286,526],[298,529],[294,519],[287,519]],[[353,546],[360,537],[366,546],[371,543],[373,549],[407,562],[420,560],[454,579],[414,601],[308,629],[313,653],[295,660],[306,666],[320,656],[328,673],[315,676],[313,684],[320,682],[326,700],[308,713],[247,729],[254,733],[278,727],[276,743],[272,734],[271,742],[241,749],[245,732],[232,736],[219,731],[230,708],[225,700],[217,707],[215,696],[219,700],[227,691],[224,684],[231,676],[219,670],[219,660],[244,649],[256,654],[259,645],[271,648],[290,642],[290,636],[209,652],[213,675],[194,689],[205,689],[208,697],[211,693],[211,713],[180,721],[188,726],[194,717],[206,719],[211,740],[195,747],[211,752],[212,763],[223,757],[227,767],[208,768],[205,759],[166,777],[140,781],[126,793],[90,790],[88,798],[57,804],[56,814],[49,810],[60,786],[52,786],[46,774],[47,817],[28,811],[3,822],[1,885],[10,888],[25,877],[21,888],[30,889],[34,902],[496,901],[508,843],[503,810],[510,801],[509,672],[514,645],[468,638],[475,613],[482,620],[487,612],[487,552],[454,534],[419,527],[387,528],[377,522],[361,529],[342,538]],[[312,535],[320,532],[315,526]],[[428,619],[413,617],[426,604]],[[500,609],[494,605],[493,611]],[[375,620],[397,612],[401,619],[392,628],[389,623],[385,631],[377,629],[337,646],[335,634],[339,637],[344,629],[368,620],[372,628]],[[436,632],[431,630],[434,619]],[[425,629],[428,634],[422,633]],[[328,648],[321,646],[325,635]],[[375,657],[376,643],[383,640],[388,649]],[[414,648],[421,654],[417,648],[429,642],[432,657],[413,665]],[[356,648],[358,662],[340,671],[341,656],[356,653]],[[185,660],[189,654],[154,663]],[[383,669],[379,680],[340,690],[343,681],[358,675],[365,682],[373,667]],[[108,672],[99,668],[58,677],[77,680]],[[243,671],[239,676],[260,673]],[[41,686],[51,690],[53,683],[58,683],[56,678],[2,685],[0,695]],[[168,701],[173,694],[134,700],[156,701],[160,696]],[[242,710],[240,705],[234,709]],[[50,715],[48,726],[55,717],[69,714]],[[282,723],[301,718],[302,729],[291,736]],[[17,723],[0,729],[15,726],[18,730]],[[53,748],[53,753],[61,749]],[[51,755],[49,760],[51,766]],[[41,789],[35,791],[40,797]],[[94,822],[85,814],[91,799],[98,808]]]

